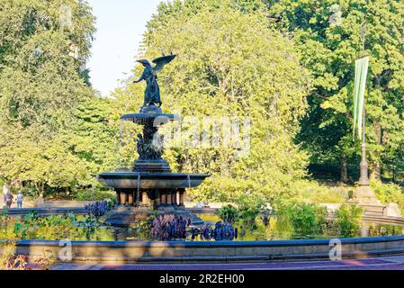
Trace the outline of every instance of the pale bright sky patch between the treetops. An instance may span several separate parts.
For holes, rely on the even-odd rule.
[[[86,67],[94,89],[109,96],[130,76],[146,23],[161,0],[87,0],[96,17],[92,56]]]

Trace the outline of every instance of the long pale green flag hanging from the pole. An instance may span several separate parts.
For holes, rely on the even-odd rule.
[[[359,58],[355,61],[355,90],[354,90],[354,138],[355,126],[358,125],[358,136],[362,139],[364,117],[364,88],[366,85],[369,57]]]

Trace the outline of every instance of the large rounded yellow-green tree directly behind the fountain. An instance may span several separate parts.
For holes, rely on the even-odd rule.
[[[254,13],[248,13],[250,7]],[[227,147],[166,149],[176,171],[212,175],[193,196],[231,201],[249,193],[272,200],[297,193],[292,184],[305,175],[307,156],[292,138],[305,113],[310,79],[292,41],[267,27],[265,6],[249,6],[248,1],[162,3],[148,23],[144,48],[139,57],[156,58],[170,50],[178,54],[158,76],[166,112],[183,119],[230,116],[252,123],[245,157]],[[136,76],[140,69],[135,68]],[[140,104],[143,89],[129,84],[117,93],[136,95]],[[190,140],[184,135],[175,139]]]

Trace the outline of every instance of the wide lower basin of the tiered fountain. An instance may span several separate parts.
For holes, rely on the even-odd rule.
[[[209,176],[187,173],[113,172],[98,175],[98,181],[114,189],[177,189],[197,187]]]

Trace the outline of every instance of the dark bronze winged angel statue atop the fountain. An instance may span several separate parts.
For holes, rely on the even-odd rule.
[[[143,74],[139,77],[139,79],[133,81],[133,83],[139,83],[142,80],[146,81],[145,101],[143,103],[144,107],[156,104],[161,106],[162,102],[160,99],[160,87],[157,84],[157,72],[160,71],[166,64],[170,63],[175,56],[176,55],[173,54],[168,56],[163,54],[162,57],[155,58],[152,61],[154,64],[156,64],[155,67],[152,67],[146,59],[138,60],[138,62],[141,63],[145,69],[143,70]]]

